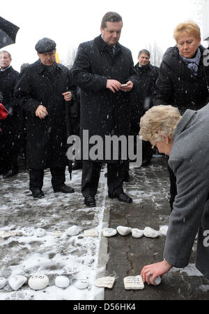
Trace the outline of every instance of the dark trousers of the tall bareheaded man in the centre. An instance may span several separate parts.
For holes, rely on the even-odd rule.
[[[95,197],[98,191],[102,163],[83,160],[82,194]],[[128,161],[107,164],[107,185],[109,196],[123,193],[123,182],[128,170]]]

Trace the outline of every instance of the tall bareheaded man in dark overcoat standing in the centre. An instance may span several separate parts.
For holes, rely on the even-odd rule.
[[[129,94],[135,83],[134,63],[131,51],[118,43],[122,27],[123,20],[118,13],[104,15],[101,35],[80,44],[72,67],[74,83],[81,88],[81,135],[88,130],[89,138],[129,135]],[[106,161],[109,197],[132,202],[123,192],[128,162]],[[95,206],[101,167],[102,163],[91,158],[83,160],[82,193],[86,206]]]

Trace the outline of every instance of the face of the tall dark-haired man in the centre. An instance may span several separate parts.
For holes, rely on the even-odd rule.
[[[110,46],[114,46],[114,44],[117,44],[121,38],[122,28],[122,22],[107,22],[107,27],[100,28],[102,33],[102,40],[104,40],[104,42]]]

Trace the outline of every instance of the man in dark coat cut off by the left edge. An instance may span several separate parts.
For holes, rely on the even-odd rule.
[[[0,174],[4,178],[18,173],[17,157],[20,151],[22,112],[14,97],[19,73],[10,65],[12,57],[8,51],[0,52],[0,90],[3,106],[9,115],[1,120],[0,129]]]

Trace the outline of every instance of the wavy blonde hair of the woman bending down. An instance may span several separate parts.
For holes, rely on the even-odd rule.
[[[140,133],[143,140],[156,142],[164,140],[164,136],[173,138],[180,120],[178,108],[173,106],[154,106],[141,118]]]

